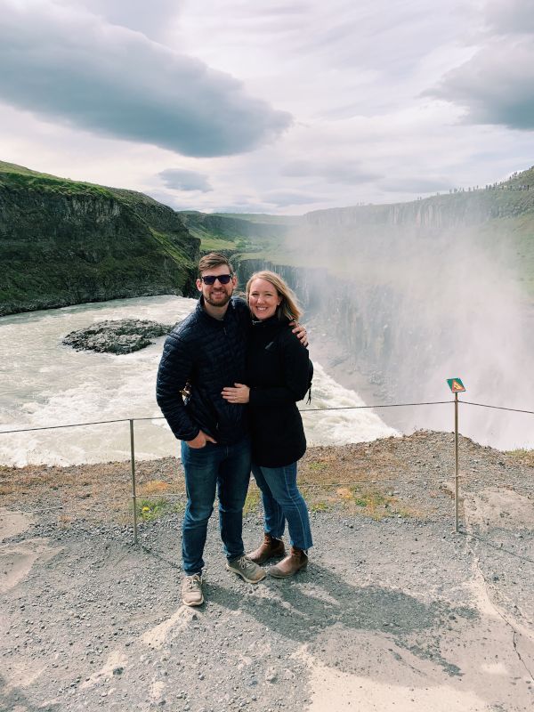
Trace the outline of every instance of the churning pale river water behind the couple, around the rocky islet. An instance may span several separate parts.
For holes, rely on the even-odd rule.
[[[196,300],[178,296],[119,299],[0,319],[0,430],[50,428],[122,418],[136,422],[140,459],[178,455],[178,443],[155,401],[164,337],[125,355],[76,352],[61,344],[70,331],[95,321],[126,318],[172,324]],[[364,405],[314,362],[312,404],[303,409]],[[372,441],[396,434],[372,410],[312,411],[303,415],[309,445]],[[128,423],[0,434],[2,465],[79,465],[124,460],[130,454]]]

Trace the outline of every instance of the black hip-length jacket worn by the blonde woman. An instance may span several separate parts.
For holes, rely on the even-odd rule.
[[[306,451],[296,408],[309,388],[312,362],[286,319],[254,321],[247,351],[249,418],[255,465],[281,467]]]

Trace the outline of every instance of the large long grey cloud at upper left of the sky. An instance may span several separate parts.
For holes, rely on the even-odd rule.
[[[253,150],[291,123],[230,75],[83,8],[0,6],[0,98],[12,106],[197,157]]]

